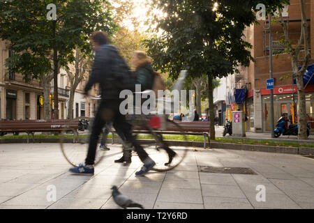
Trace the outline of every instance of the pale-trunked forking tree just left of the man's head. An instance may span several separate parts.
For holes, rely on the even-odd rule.
[[[74,95],[77,86],[82,82],[82,79],[87,77],[87,70],[91,67],[91,56],[86,56],[82,54],[80,49],[77,47],[75,49],[75,62],[74,65],[70,64],[68,70],[66,70],[68,75],[68,80],[70,82],[70,96],[68,99],[68,118],[73,118],[73,102]]]

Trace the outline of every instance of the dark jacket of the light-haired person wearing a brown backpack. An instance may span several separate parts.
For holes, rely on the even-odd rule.
[[[152,89],[154,83],[153,71],[154,69],[150,63],[144,63],[135,70],[136,84],[141,84],[142,91]]]

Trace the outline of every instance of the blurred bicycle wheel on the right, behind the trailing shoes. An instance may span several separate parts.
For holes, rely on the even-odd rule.
[[[171,132],[177,132],[178,135],[183,137],[184,141],[187,141],[186,133],[177,123],[167,120],[167,126],[171,128]],[[188,153],[188,149],[182,148],[182,146],[171,146],[170,141],[165,140],[165,135],[163,136],[158,130],[151,128],[147,121],[144,121],[142,127],[147,130],[145,134],[150,134],[151,137],[149,138],[154,139],[154,143],[150,143],[149,146],[145,148],[149,157],[156,162],[156,165],[153,168],[154,171],[170,171],[184,160],[184,157],[186,157],[186,154]]]

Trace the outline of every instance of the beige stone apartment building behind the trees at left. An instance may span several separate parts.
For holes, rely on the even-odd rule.
[[[5,66],[6,59],[13,54],[9,49],[7,41],[0,40],[0,118],[24,120],[43,119],[43,86],[38,80],[25,82],[21,74],[8,72]],[[73,105],[73,117],[80,116],[93,117],[97,108],[98,100],[94,100],[98,95],[98,86],[89,92],[89,97],[84,97],[83,90],[86,80],[81,82],[75,92],[75,102]],[[50,103],[52,118],[54,114],[54,86],[50,84]],[[70,83],[66,71],[61,69],[58,76],[59,94],[59,118],[68,117],[68,100],[70,96]]]

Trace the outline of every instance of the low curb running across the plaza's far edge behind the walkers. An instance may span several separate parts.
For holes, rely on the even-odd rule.
[[[79,139],[80,143],[87,143],[88,139]],[[140,144],[154,144],[152,139],[139,139]],[[121,139],[114,139],[115,144],[121,144]],[[30,139],[30,143],[59,143],[59,139]],[[73,139],[63,139],[63,143],[73,143]],[[27,139],[0,139],[0,144],[27,144]],[[111,139],[108,139],[108,144],[112,144]],[[204,146],[202,141],[167,141],[170,146],[190,146],[200,147]],[[241,151],[258,151],[266,153],[287,153],[297,155],[314,155],[314,148],[306,147],[284,147],[284,146],[259,146],[248,144],[228,144],[207,142],[207,147],[218,149],[230,149]]]

